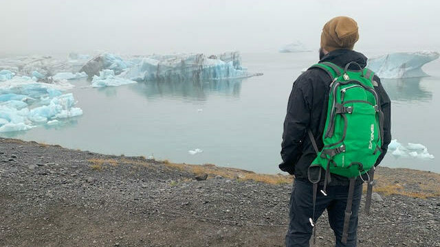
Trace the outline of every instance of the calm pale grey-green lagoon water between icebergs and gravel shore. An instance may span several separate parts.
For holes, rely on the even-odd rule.
[[[278,173],[281,134],[292,82],[316,62],[315,52],[243,54],[243,64],[263,76],[193,83],[138,83],[72,90],[84,115],[55,127],[2,134],[105,154],[144,155],[173,162],[214,163]],[[384,80],[392,102],[393,139],[423,143],[440,158],[440,62],[430,78]],[[188,150],[199,148],[201,154]],[[440,172],[434,160],[395,158],[382,165]]]

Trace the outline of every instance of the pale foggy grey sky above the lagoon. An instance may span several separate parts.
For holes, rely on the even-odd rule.
[[[318,49],[326,21],[358,21],[355,49],[440,49],[439,1],[0,0],[0,54]]]

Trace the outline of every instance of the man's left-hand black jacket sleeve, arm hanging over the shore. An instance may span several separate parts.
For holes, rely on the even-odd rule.
[[[303,139],[307,134],[307,126],[309,126],[310,121],[310,104],[307,102],[307,97],[305,97],[307,92],[303,90],[303,85],[307,84],[307,77],[303,75],[300,75],[294,82],[284,121],[283,141],[281,143],[283,163],[279,167],[281,170],[289,172],[289,174],[294,174],[294,166],[302,154]]]

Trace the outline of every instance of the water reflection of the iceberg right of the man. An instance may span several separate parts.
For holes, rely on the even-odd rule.
[[[382,79],[391,100],[430,102],[432,92],[420,85],[423,78]]]

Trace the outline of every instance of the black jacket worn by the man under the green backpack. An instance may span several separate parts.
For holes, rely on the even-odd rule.
[[[336,49],[325,55],[320,62],[333,62],[344,68],[351,61],[358,62],[361,67],[365,67],[366,60],[367,58],[359,52],[349,49]],[[349,69],[359,68],[353,66]],[[378,86],[375,86],[375,90],[379,95],[384,113],[382,154],[375,164],[379,165],[386,154],[388,144],[391,142],[391,102],[380,82],[380,78],[375,75],[374,80],[378,84]],[[283,163],[279,167],[283,171],[289,172],[289,174],[294,174],[296,179],[307,180],[307,168],[316,158],[316,152],[307,135],[307,129],[311,129],[317,139],[318,149],[321,150],[324,146],[322,138],[318,137],[322,137],[325,128],[330,83],[330,76],[324,70],[318,68],[305,71],[294,82],[289,104],[287,104],[283,142],[281,143]],[[348,183],[347,178],[335,174],[331,174],[331,180],[329,185],[345,185]]]

